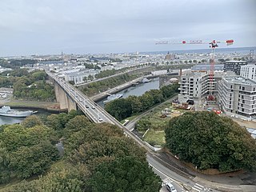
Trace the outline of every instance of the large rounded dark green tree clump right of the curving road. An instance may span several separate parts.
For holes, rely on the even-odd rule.
[[[166,147],[201,170],[256,170],[255,140],[238,123],[214,112],[187,112],[170,119]]]

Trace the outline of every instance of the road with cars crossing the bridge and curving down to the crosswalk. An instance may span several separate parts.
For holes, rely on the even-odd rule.
[[[142,141],[138,138],[137,135],[132,133],[130,130],[126,128],[126,126],[122,126],[120,122],[118,122],[115,118],[113,118],[110,114],[106,112],[106,110],[102,109],[102,107],[98,106],[93,100],[86,97],[85,94],[82,94],[81,91],[76,90],[74,86],[66,83],[62,78],[58,78],[54,74],[50,74],[50,72],[46,73],[53,78],[56,82],[58,82],[59,86],[66,91],[67,94],[70,95],[70,98],[77,103],[78,107],[89,117],[93,122],[109,122],[120,127],[126,136],[133,138],[138,145],[142,146],[147,150],[147,161],[149,162],[150,166],[154,167],[154,171],[159,174],[160,177],[163,179],[170,179],[174,182],[175,186],[177,187],[186,187],[190,191],[209,191],[206,186],[203,186],[202,183],[196,183],[191,181],[190,175],[178,170],[174,166],[171,166],[168,162],[164,162],[162,159],[158,158],[154,154],[154,147],[147,145],[146,142]],[[166,178],[165,178],[166,177]],[[180,189],[180,188],[178,188]],[[162,189],[164,191],[164,188]],[[180,190],[182,191],[182,190]],[[217,190],[211,190],[217,191]]]

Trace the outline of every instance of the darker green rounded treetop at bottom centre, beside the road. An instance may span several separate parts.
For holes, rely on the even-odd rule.
[[[89,186],[95,192],[153,192],[160,190],[161,179],[147,162],[128,156],[100,164],[89,179]]]

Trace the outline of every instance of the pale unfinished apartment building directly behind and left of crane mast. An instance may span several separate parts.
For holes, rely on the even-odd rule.
[[[234,72],[228,71],[214,71],[214,78],[212,84],[210,83],[209,71],[192,71],[190,73],[183,74],[181,81],[179,82],[180,93],[178,94],[179,102],[186,102],[191,99],[202,99],[210,94],[210,86],[212,86],[212,94],[218,95],[218,82],[224,76],[234,75]]]

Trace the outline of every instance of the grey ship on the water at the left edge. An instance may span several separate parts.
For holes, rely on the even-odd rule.
[[[18,110],[11,110],[10,106],[2,106],[0,108],[0,115],[11,117],[11,118],[26,118],[27,116],[30,116],[31,114],[34,114],[35,112],[32,110],[24,110],[24,111],[18,111]]]

